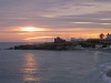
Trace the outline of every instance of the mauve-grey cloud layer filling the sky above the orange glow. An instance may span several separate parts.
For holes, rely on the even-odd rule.
[[[111,17],[111,3],[100,1],[103,0],[0,0],[0,28],[107,28],[111,20],[101,19]]]

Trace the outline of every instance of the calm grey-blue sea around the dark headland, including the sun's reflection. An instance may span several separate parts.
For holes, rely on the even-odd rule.
[[[0,43],[0,83],[111,83],[111,53],[75,50],[6,50]]]

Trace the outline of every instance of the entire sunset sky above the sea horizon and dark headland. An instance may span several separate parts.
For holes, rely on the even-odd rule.
[[[89,39],[111,33],[111,0],[0,0],[0,42]]]

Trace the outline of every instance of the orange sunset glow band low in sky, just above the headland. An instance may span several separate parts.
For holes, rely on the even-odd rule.
[[[26,28],[26,27],[24,27]],[[17,29],[18,30],[18,29]],[[109,33],[109,29],[46,29],[46,30],[18,30],[0,33],[2,40],[9,40],[14,42],[50,42],[53,41],[56,37],[60,37],[65,40],[71,38],[75,39],[98,39],[100,33]],[[10,38],[9,38],[10,37]],[[7,39],[6,39],[7,38]]]

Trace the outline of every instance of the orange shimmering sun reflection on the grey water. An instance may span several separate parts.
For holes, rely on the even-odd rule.
[[[32,53],[24,55],[24,64],[22,69],[23,81],[28,83],[40,83],[40,79],[37,74],[39,71],[38,62]]]

